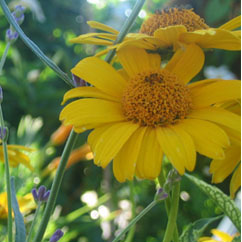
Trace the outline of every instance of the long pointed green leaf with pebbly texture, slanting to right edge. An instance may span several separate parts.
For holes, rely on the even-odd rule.
[[[226,214],[231,219],[235,227],[240,231],[241,213],[235,205],[234,201],[217,187],[211,186],[194,176],[188,174],[185,174],[185,176],[195,185],[197,185],[204,193],[206,193],[216,203],[216,205],[219,206],[224,214]]]

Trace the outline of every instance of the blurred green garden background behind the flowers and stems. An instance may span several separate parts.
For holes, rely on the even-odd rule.
[[[23,0],[8,1],[10,9],[22,4],[26,7],[25,20],[21,25],[40,49],[63,71],[70,69],[82,58],[94,55],[102,46],[71,44],[69,40],[80,34],[94,32],[86,24],[95,20],[120,30],[129,16],[134,0]],[[239,0],[147,0],[132,32],[138,32],[142,22],[155,10],[165,7],[193,8],[211,27],[218,27],[240,14]],[[6,42],[5,31],[9,24],[0,9],[0,56]],[[214,50],[206,53],[205,68],[199,79],[226,77],[240,78],[240,53]],[[68,130],[59,130],[58,120],[62,109],[60,103],[69,87],[46,67],[24,43],[18,39],[10,48],[0,85],[3,88],[3,113],[10,129],[9,143],[31,146],[34,172],[24,166],[12,169],[17,177],[18,196],[23,196],[33,187],[46,185],[49,189],[58,156],[63,149],[63,140]],[[46,236],[61,228],[65,242],[111,241],[124,228],[132,216],[141,211],[153,199],[156,191],[154,182],[135,180],[133,183],[118,183],[110,172],[94,166],[92,154],[85,146],[88,133],[79,136],[76,153],[65,173],[64,182],[57,200],[57,207]],[[52,136],[52,138],[51,138]],[[211,182],[209,159],[199,156],[195,174]],[[0,176],[4,176],[0,163]],[[228,193],[230,177],[219,184]],[[4,191],[0,182],[0,193]],[[0,201],[1,203],[1,201]],[[0,204],[1,205],[1,204]],[[182,180],[178,229],[182,231],[189,223],[205,217],[221,214],[210,199],[197,191],[186,178]],[[26,217],[27,225],[33,219]],[[164,205],[156,206],[136,226],[133,241],[158,242],[166,227]],[[213,224],[213,227],[216,226]],[[6,220],[0,218],[0,241],[6,235]],[[128,242],[128,241],[126,241]]]

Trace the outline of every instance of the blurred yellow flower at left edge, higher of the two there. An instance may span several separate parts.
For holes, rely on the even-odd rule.
[[[33,149],[22,146],[22,145],[8,145],[8,159],[9,165],[16,167],[22,164],[28,167],[31,171],[33,166],[30,164],[30,158],[25,154],[25,152],[31,152]],[[0,146],[0,162],[4,162],[3,148]]]

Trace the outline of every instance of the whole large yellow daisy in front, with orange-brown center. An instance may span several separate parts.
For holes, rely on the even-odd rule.
[[[113,160],[118,181],[154,179],[165,154],[180,174],[192,171],[196,151],[224,159],[230,145],[217,124],[240,129],[238,115],[212,106],[240,98],[240,81],[211,79],[188,84],[201,70],[204,53],[197,45],[180,49],[162,67],[158,54],[139,48],[117,52],[124,71],[116,71],[97,57],[80,61],[72,73],[93,85],[68,91],[60,114],[64,125],[78,133],[94,129],[88,143],[94,163],[106,167]]]

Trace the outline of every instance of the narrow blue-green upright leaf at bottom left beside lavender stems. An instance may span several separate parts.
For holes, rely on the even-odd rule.
[[[24,242],[26,241],[26,230],[24,226],[24,219],[22,214],[19,211],[18,201],[16,198],[14,177],[11,177],[11,195],[12,195],[12,206],[13,206],[13,212],[14,212],[14,221],[16,226],[15,242]]]

